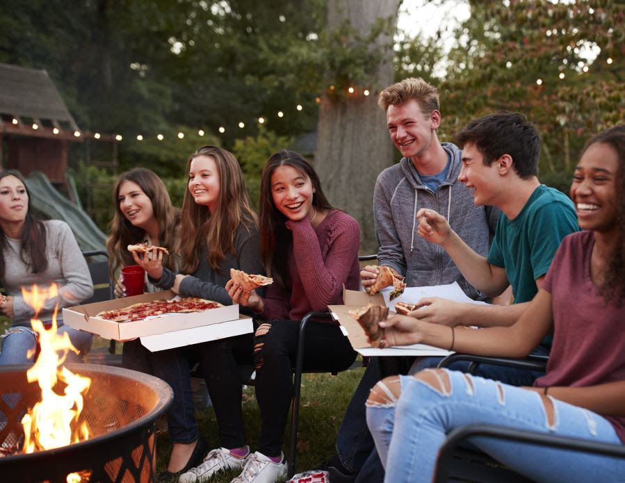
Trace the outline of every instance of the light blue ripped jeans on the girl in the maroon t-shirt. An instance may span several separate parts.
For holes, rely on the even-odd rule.
[[[442,371],[448,374],[448,384]],[[541,395],[457,371],[428,370],[435,386],[413,376],[384,379],[367,402],[367,423],[386,470],[385,482],[431,482],[437,453],[457,427],[496,424],[514,429],[622,444],[608,420],[555,400],[549,425]],[[373,393],[378,393],[378,399]],[[380,398],[380,394],[382,398]],[[397,423],[397,424],[396,424]],[[476,437],[471,443],[538,482],[624,482],[625,461]]]

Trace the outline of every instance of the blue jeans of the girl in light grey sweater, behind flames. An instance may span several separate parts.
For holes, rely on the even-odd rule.
[[[59,321],[60,324],[62,322]],[[72,345],[79,350],[80,354],[73,351],[67,352],[67,362],[82,362],[82,357],[91,350],[92,334],[72,329],[68,325],[60,325],[58,334],[70,336]],[[0,352],[0,366],[8,364],[28,364],[35,361],[35,356],[27,357],[29,350],[35,349],[37,339],[35,332],[30,327],[11,327],[3,336],[2,352]]]

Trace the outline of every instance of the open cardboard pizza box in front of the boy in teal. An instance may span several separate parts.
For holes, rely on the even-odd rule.
[[[390,288],[386,288],[390,292]],[[382,291],[384,291],[382,290]],[[388,299],[388,297],[387,297]],[[343,334],[347,336],[353,349],[359,354],[365,357],[375,356],[441,356],[445,357],[452,352],[441,349],[439,347],[433,347],[432,345],[425,344],[413,344],[403,345],[395,347],[386,347],[380,349],[379,347],[371,347],[371,344],[367,342],[364,329],[360,326],[357,320],[348,316],[348,311],[353,309],[359,309],[367,304],[380,304],[388,305],[385,301],[384,294],[376,293],[375,295],[369,295],[364,291],[359,290],[347,290],[343,286],[343,303],[344,305],[329,305],[332,318],[341,324],[341,330]],[[392,304],[391,304],[392,306]],[[392,311],[391,311],[392,312]],[[394,312],[393,312],[394,313]]]

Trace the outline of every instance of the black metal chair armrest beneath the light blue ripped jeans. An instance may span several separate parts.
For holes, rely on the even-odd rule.
[[[517,441],[532,445],[559,448],[576,452],[588,452],[595,455],[606,455],[625,459],[625,446],[609,443],[597,443],[587,439],[555,436],[522,429],[512,429],[492,425],[468,425],[454,429],[439,450],[436,466],[435,482],[448,481],[448,469],[453,466],[453,453],[467,439],[475,436],[498,439],[503,441]]]

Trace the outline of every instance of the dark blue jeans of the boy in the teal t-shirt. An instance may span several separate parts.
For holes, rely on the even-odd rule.
[[[532,352],[537,355],[549,355],[549,351],[540,345]],[[381,482],[384,478],[384,468],[375,449],[373,438],[366,424],[365,402],[369,390],[386,376],[397,374],[414,374],[426,368],[438,366],[442,357],[412,357],[406,368],[406,357],[372,357],[365,370],[361,382],[358,384],[352,400],[343,416],[339,434],[336,436],[336,454],[343,466],[352,472],[358,472],[357,483]],[[394,366],[394,367],[393,367]],[[468,362],[454,363],[451,368],[466,372]],[[531,386],[534,380],[543,373],[490,364],[480,364],[476,375],[488,379],[496,379],[513,386]]]

